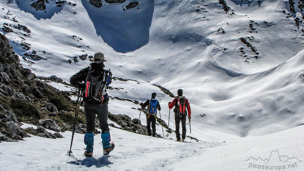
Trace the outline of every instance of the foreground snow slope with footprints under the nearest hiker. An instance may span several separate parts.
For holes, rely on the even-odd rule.
[[[28,126],[31,125],[23,125],[24,128]],[[304,166],[303,126],[238,141],[193,143],[154,138],[111,128],[111,138],[116,143],[115,149],[110,156],[103,156],[100,134],[95,135],[92,158],[85,158],[83,155],[83,135],[74,135],[73,154],[69,157],[66,152],[70,147],[72,133],[67,131],[60,134],[64,136],[63,139],[33,136],[25,138],[26,141],[2,142],[0,170],[238,171],[261,170],[250,167],[250,164],[291,167],[281,170],[302,170]],[[292,167],[292,164],[296,166]]]

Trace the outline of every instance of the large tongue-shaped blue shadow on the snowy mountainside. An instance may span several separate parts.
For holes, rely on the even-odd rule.
[[[100,8],[89,1],[81,2],[93,22],[97,35],[116,52],[131,52],[149,42],[154,0],[140,0],[139,5],[131,9],[125,7],[129,2],[103,2]]]

